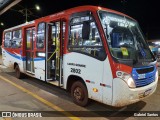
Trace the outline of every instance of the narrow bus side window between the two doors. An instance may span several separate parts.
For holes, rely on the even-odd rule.
[[[44,48],[45,23],[39,23],[37,31],[37,48]]]

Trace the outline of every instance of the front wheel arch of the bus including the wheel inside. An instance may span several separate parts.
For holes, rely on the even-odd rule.
[[[71,75],[68,78],[67,90],[71,93],[73,102],[86,106],[89,102],[88,90],[84,80],[79,76]]]

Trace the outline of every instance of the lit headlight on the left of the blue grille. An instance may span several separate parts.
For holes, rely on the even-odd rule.
[[[135,82],[130,74],[125,73],[125,72],[121,72],[121,71],[117,71],[117,77],[121,78],[123,81],[125,81],[125,83],[128,85],[128,87],[130,87],[130,88],[136,87]]]

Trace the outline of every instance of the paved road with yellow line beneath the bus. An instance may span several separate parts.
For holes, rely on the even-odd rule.
[[[0,63],[1,64],[1,63]],[[0,111],[48,111],[42,118],[29,119],[112,119],[112,120],[159,120],[159,117],[133,117],[127,115],[130,111],[145,112],[152,111],[160,115],[160,81],[156,92],[138,103],[128,105],[122,108],[114,108],[108,105],[91,101],[86,107],[77,106],[72,102],[71,96],[65,90],[39,81],[37,79],[26,77],[16,79],[12,69],[7,69],[0,65]],[[125,113],[124,116],[121,113]],[[147,113],[148,113],[147,112]],[[111,116],[105,116],[109,113]],[[149,112],[150,113],[150,112]],[[48,116],[51,117],[48,117]],[[86,117],[87,116],[87,117]],[[118,117],[115,117],[118,116]],[[22,118],[10,118],[12,120],[21,120]]]

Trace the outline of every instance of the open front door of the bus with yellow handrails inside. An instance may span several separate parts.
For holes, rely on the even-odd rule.
[[[46,80],[58,81],[58,85],[63,84],[62,80],[62,45],[64,29],[61,21],[47,23],[46,27]]]

